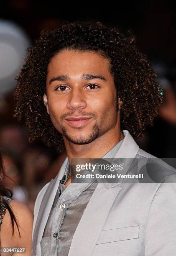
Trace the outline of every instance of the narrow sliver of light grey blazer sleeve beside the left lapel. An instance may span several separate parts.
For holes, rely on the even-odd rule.
[[[44,194],[45,194],[45,192],[46,192],[46,189],[47,189],[49,183],[50,183],[50,182],[48,182],[48,183],[40,190],[40,192],[38,193],[37,198],[36,198],[36,202],[35,202],[35,205],[34,205],[34,211],[33,211],[34,219],[33,219],[32,237],[33,237],[33,232],[34,232],[34,229],[35,229],[36,220],[37,220],[38,212],[39,212],[39,209],[40,209],[41,201],[42,201],[42,199],[43,199],[43,196],[44,196]]]

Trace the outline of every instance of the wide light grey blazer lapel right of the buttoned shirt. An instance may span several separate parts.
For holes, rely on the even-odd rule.
[[[107,215],[121,189],[118,184],[110,189],[107,189],[103,183],[97,185],[74,233],[68,256],[91,255]]]

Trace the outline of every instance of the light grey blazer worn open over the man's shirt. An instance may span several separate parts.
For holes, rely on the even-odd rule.
[[[140,149],[127,130],[123,132],[125,138],[115,158],[154,157]],[[36,199],[33,256],[41,256],[43,230],[67,162],[68,158]],[[173,171],[163,183],[99,183],[77,226],[68,255],[176,255],[176,184],[166,183],[176,179],[176,172],[165,163],[160,168]]]

